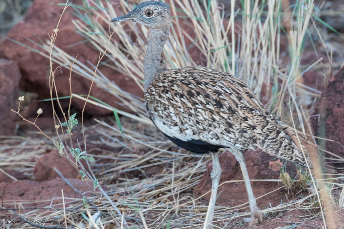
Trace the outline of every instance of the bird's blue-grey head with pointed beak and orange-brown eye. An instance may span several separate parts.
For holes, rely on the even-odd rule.
[[[160,1],[148,1],[138,4],[128,14],[114,18],[111,22],[137,22],[153,29],[169,28],[171,11],[167,4]]]

